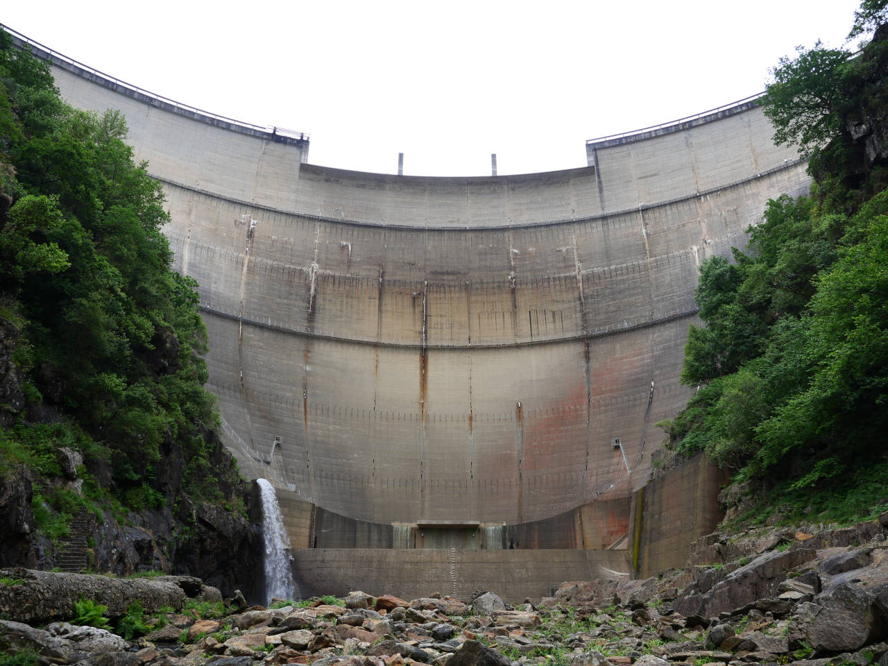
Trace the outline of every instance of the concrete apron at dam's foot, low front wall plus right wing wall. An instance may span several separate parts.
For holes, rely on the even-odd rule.
[[[489,590],[508,603],[520,603],[528,597],[550,597],[561,583],[569,581],[646,578],[670,567],[685,566],[690,544],[710,534],[723,516],[716,497],[725,480],[725,472],[702,455],[663,472],[627,502],[611,507],[609,512],[622,513],[622,529],[628,529],[629,537],[615,539],[611,548],[600,543],[552,547],[551,543],[583,540],[582,527],[572,530],[565,521],[570,518],[567,515],[542,521],[533,528],[503,526],[506,543],[511,541],[509,534],[531,539],[542,535],[543,541],[530,544],[533,550],[523,550],[521,542],[517,549],[503,549],[503,542],[484,543],[480,538],[479,548],[416,548],[404,540],[400,548],[392,548],[392,538],[397,540],[393,536],[396,527],[343,517],[336,517],[337,527],[327,527],[326,536],[321,534],[321,543],[348,535],[350,543],[359,547],[299,547],[316,543],[318,535],[314,531],[322,533],[323,525],[330,525],[330,516],[286,490],[277,493],[287,517],[289,541],[295,546],[289,553],[297,594],[303,599],[326,594],[342,597],[361,590],[373,596],[393,594],[402,599],[440,592],[467,600],[476,591]],[[580,522],[582,511],[569,513]],[[439,529],[444,538],[455,539],[456,533],[470,531],[471,527],[418,529]],[[604,531],[599,525],[587,533]]]

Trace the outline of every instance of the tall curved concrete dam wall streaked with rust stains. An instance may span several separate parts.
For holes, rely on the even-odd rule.
[[[693,391],[698,267],[809,186],[755,100],[591,141],[582,168],[405,177],[42,54],[75,107],[126,115],[163,182],[242,471],[368,523],[628,498]]]

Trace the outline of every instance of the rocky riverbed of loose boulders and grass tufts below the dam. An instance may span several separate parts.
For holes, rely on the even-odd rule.
[[[188,577],[87,584],[88,576],[10,569],[0,571],[0,646],[35,663],[83,666],[888,666],[886,536],[888,514],[819,533],[710,535],[694,544],[688,567],[564,583],[552,598],[515,606],[492,591],[472,599],[354,591],[248,607],[239,595],[223,604]],[[119,633],[131,630],[123,618],[139,601],[144,635],[61,622],[72,619],[78,589],[113,600],[107,616]]]

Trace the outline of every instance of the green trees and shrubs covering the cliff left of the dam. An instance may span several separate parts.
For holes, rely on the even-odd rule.
[[[163,192],[125,137],[0,33],[0,481],[36,475],[50,537],[83,509],[167,507],[184,532],[202,500],[243,510],[210,432],[196,283],[170,270]]]

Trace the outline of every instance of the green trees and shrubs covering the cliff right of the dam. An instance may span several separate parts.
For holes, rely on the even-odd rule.
[[[855,26],[873,28],[885,5],[864,2]],[[698,390],[663,425],[679,453],[763,484],[759,519],[884,511],[888,25],[853,58],[818,44],[781,60],[765,115],[809,155],[812,193],[768,202],[748,250],[702,266],[706,325],[690,330],[682,372]]]

